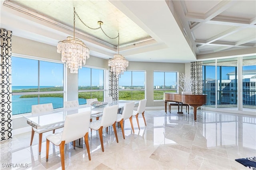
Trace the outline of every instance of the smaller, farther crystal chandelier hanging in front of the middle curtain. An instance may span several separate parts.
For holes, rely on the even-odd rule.
[[[114,73],[116,78],[119,78],[121,74],[128,67],[128,60],[124,58],[123,55],[119,54],[119,33],[118,33],[118,54],[114,54],[113,59],[109,59],[108,66],[110,66],[110,71]]]

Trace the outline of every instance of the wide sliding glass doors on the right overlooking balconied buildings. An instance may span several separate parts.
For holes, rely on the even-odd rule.
[[[256,56],[203,61],[205,107],[256,111]]]

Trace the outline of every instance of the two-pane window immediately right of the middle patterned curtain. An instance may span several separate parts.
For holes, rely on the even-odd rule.
[[[145,99],[145,72],[125,71],[119,78],[119,100]]]

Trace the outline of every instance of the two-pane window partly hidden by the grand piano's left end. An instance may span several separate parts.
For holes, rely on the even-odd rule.
[[[177,72],[154,71],[154,100],[163,100],[164,92],[177,92]]]

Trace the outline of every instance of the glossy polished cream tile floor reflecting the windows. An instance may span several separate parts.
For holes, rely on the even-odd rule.
[[[133,119],[125,121],[125,139],[117,129],[119,143],[113,129],[104,132],[104,152],[96,131],[89,137],[91,160],[84,148],[65,147],[65,168],[75,169],[249,169],[236,158],[256,156],[256,117],[214,111],[193,113],[165,113],[164,110],[146,110],[147,126],[140,115],[140,127]],[[51,133],[51,132],[50,132]],[[49,134],[49,133],[48,133]],[[46,162],[46,142],[43,135],[42,153],[38,155],[38,134],[30,147],[30,132],[14,135],[0,142],[1,169],[61,169],[59,147],[50,145]],[[6,168],[6,166],[16,166]]]

